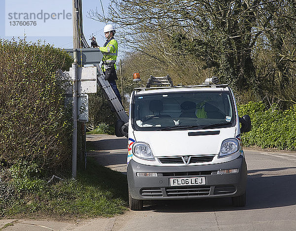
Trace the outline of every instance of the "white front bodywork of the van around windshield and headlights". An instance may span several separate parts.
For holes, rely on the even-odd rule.
[[[205,165],[205,164],[218,164],[225,163],[236,159],[240,155],[244,155],[242,147],[240,151],[230,155],[229,157],[218,158],[220,148],[223,140],[227,138],[238,138],[241,144],[239,117],[237,114],[236,102],[233,97],[231,89],[217,88],[217,87],[201,87],[201,88],[165,88],[133,92],[130,98],[130,112],[132,111],[133,97],[137,97],[138,94],[148,95],[156,93],[171,93],[171,92],[192,92],[192,91],[230,91],[232,99],[234,101],[234,110],[236,114],[236,124],[230,128],[215,128],[215,129],[202,129],[202,130],[178,130],[178,131],[135,131],[132,128],[131,116],[129,118],[129,140],[128,140],[128,157],[127,164],[131,159],[139,164],[161,166],[158,158],[161,157],[184,157],[184,156],[200,156],[200,155],[215,155],[214,159],[210,163],[194,163],[189,165]],[[130,113],[131,115],[131,113]],[[212,132],[219,131],[216,135],[194,135],[189,136],[188,132]],[[132,147],[134,142],[148,143],[155,161],[148,161],[137,158],[133,155]],[[185,164],[169,164],[170,166],[182,166]],[[167,164],[165,166],[168,166]]]

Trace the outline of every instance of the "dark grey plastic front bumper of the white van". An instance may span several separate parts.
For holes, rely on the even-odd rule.
[[[217,174],[217,170],[238,169],[238,173]],[[155,172],[156,177],[138,177],[137,172]],[[205,185],[171,186],[170,178],[205,177]],[[141,200],[236,197],[245,193],[245,158],[212,165],[151,166],[131,160],[127,166],[129,193]]]

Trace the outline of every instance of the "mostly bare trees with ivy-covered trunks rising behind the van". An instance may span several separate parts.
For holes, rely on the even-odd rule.
[[[130,71],[185,84],[216,75],[237,93],[296,102],[295,0],[111,0],[106,20]]]

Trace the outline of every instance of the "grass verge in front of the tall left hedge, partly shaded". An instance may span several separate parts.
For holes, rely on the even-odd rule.
[[[126,210],[127,179],[122,173],[88,158],[86,170],[78,167],[76,180],[61,180],[52,185],[46,182],[38,190],[35,187],[35,190],[20,193],[12,199],[9,201],[11,206],[2,210],[6,217],[110,217]]]

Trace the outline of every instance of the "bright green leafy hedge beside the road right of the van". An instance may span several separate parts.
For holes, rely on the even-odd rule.
[[[296,150],[296,105],[285,111],[274,108],[266,110],[253,101],[238,105],[239,116],[248,114],[252,121],[252,131],[242,135],[245,146]]]

